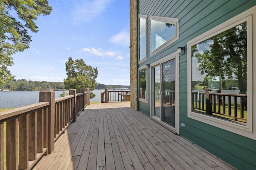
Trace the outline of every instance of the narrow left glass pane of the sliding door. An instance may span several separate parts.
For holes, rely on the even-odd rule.
[[[160,118],[161,115],[161,88],[160,88],[160,66],[154,68],[154,115]]]

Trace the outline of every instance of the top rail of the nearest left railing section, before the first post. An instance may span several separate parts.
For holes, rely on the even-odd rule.
[[[13,117],[19,117],[23,114],[28,114],[33,111],[37,111],[39,109],[42,109],[43,107],[46,107],[49,105],[49,102],[39,102],[36,104],[31,104],[28,106],[22,106],[22,107],[17,107],[14,109],[6,110],[6,111],[1,111],[0,112],[0,123],[3,123],[4,121],[8,119],[12,119]]]

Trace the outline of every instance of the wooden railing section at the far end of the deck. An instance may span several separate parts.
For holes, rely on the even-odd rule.
[[[130,90],[109,91],[108,88],[106,88],[105,92],[101,93],[100,101],[101,103],[130,101]]]

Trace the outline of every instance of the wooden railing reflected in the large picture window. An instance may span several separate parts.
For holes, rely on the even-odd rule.
[[[192,92],[192,110],[247,123],[247,94]]]

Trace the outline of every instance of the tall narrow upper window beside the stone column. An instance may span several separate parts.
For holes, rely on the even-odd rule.
[[[147,51],[147,16],[139,15],[139,61],[146,59]]]

